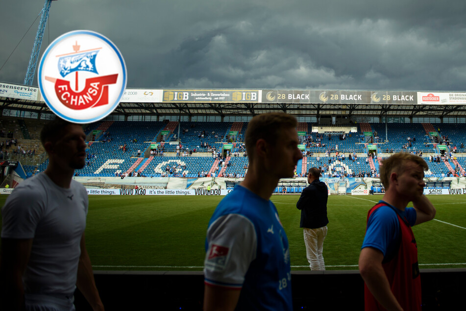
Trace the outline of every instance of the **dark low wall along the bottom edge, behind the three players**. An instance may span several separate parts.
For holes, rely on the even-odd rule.
[[[202,272],[95,271],[105,310],[202,310]],[[423,311],[465,310],[466,269],[421,269]],[[364,310],[357,270],[293,271],[294,310]],[[91,310],[79,291],[76,310]],[[322,308],[322,309],[320,309]],[[323,309],[324,308],[324,309]]]

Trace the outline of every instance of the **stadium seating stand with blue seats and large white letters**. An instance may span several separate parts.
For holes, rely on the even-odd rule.
[[[0,134],[4,141],[7,136],[18,137],[18,145],[22,145],[26,155],[18,156],[10,147],[8,156],[6,153],[0,156],[20,159],[27,176],[32,176],[47,167],[39,142],[40,129],[47,121],[26,120],[24,125],[31,137],[28,140],[24,138],[26,131],[18,120],[1,118]],[[317,128],[317,125],[298,124],[298,130],[306,135],[299,137],[305,149],[300,166],[296,168],[297,177],[305,177],[312,166],[320,166],[325,177],[377,176],[381,160],[399,151],[422,155],[429,163],[426,177],[466,174],[466,158],[461,154],[465,151],[466,129],[455,125],[360,123],[357,133],[344,135],[342,132],[312,132],[313,127]],[[214,172],[216,177],[243,177],[248,165],[243,143],[246,128],[247,123],[243,122],[97,122],[85,127],[89,140],[88,157],[86,166],[76,173],[79,176],[114,177],[139,172],[147,177],[196,178],[210,177]],[[169,133],[163,137],[162,130]],[[364,134],[368,132],[370,136]],[[443,154],[440,143],[445,146]],[[156,147],[151,149],[151,144]],[[224,148],[225,144],[231,144],[231,149]],[[377,146],[378,155],[374,159],[369,156],[366,163],[368,144]],[[29,150],[35,150],[35,155],[28,155]]]

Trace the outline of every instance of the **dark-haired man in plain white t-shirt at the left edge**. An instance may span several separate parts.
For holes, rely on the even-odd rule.
[[[47,169],[21,182],[1,209],[2,310],[74,311],[76,286],[93,310],[104,310],[84,239],[87,192],[72,179],[84,167],[85,140],[80,125],[45,125]]]

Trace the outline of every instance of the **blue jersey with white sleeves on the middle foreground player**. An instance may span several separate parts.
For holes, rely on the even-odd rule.
[[[220,202],[207,229],[204,283],[241,289],[237,310],[293,310],[288,238],[270,200],[236,186]]]

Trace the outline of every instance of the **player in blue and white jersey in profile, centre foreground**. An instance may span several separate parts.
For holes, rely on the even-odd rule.
[[[218,205],[207,229],[204,310],[293,310],[288,239],[270,196],[302,158],[296,119],[254,117],[246,130],[245,180]]]

